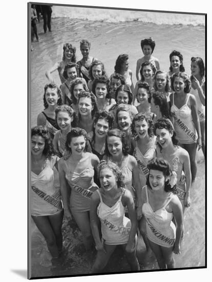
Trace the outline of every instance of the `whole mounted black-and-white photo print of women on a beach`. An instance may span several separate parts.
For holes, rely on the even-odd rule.
[[[206,268],[205,47],[206,14],[28,4],[29,279]]]

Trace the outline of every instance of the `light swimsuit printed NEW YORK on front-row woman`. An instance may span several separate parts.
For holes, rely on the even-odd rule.
[[[109,228],[109,223],[111,226],[116,227],[128,227],[131,228],[131,221],[128,217],[124,216],[125,208],[121,203],[122,195],[125,189],[123,189],[118,201],[113,207],[109,207],[102,202],[102,197],[100,191],[97,190],[100,198],[100,203],[97,207],[97,215],[101,220],[101,233],[102,238],[105,240],[107,245],[123,245],[127,244],[129,240],[129,233],[127,232],[117,232],[116,228]],[[106,221],[107,220],[107,221]],[[103,222],[107,222],[105,225]]]

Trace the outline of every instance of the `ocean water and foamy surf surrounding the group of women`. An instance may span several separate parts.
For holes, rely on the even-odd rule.
[[[62,46],[71,43],[76,46],[77,60],[81,58],[79,42],[82,38],[91,42],[90,54],[104,63],[107,74],[114,71],[116,58],[121,53],[129,54],[133,83],[136,83],[137,59],[143,54],[140,41],[152,36],[156,47],[153,55],[159,59],[160,68],[168,70],[169,53],[174,49],[183,54],[185,72],[190,73],[190,57],[200,56],[205,61],[205,19],[203,15],[173,14],[53,6],[52,32],[44,34],[42,21],[37,24],[40,42],[32,44],[31,52],[31,125],[43,110],[44,86],[48,83],[45,71],[55,62],[61,61]],[[60,85],[57,72],[53,77]],[[185,213],[185,238],[182,252],[176,255],[176,267],[198,267],[205,265],[205,163],[203,154],[198,152],[198,174],[192,189],[192,207]],[[71,227],[63,227],[65,238],[73,234]],[[45,241],[32,221],[32,276],[75,275],[89,273],[91,263],[79,247],[69,250],[67,265],[62,270],[52,269],[51,257]],[[77,233],[77,236],[80,236]],[[66,240],[65,240],[66,241]],[[67,242],[65,242],[67,244]],[[154,257],[146,258],[142,241],[138,246],[141,270],[156,269]],[[83,248],[82,248],[83,249]],[[112,261],[118,260],[118,252]],[[81,255],[77,255],[81,254]],[[92,261],[92,260],[91,260]],[[83,265],[83,268],[80,267]],[[128,270],[126,261],[117,267],[109,265],[107,272]]]

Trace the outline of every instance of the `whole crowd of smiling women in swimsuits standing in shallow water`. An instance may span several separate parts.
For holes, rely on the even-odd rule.
[[[127,54],[109,78],[84,39],[80,61],[67,43],[62,61],[46,72],[44,110],[31,130],[31,216],[54,259],[63,216],[75,220],[86,251],[97,250],[92,273],[103,271],[117,245],[139,271],[141,238],[160,269],[175,268],[180,254],[197,146],[205,153],[204,63],[192,57],[188,76],[175,50],[167,73],[153,43],[141,41],[135,88]]]

